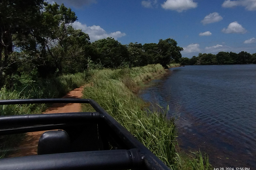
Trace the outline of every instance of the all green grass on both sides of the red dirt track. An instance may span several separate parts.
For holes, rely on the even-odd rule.
[[[144,81],[162,73],[164,73],[163,67],[156,64],[130,69],[91,70],[89,73],[63,75],[37,81],[21,80],[20,82],[23,83],[15,90],[10,91],[2,87],[0,100],[57,98],[89,81],[92,86],[84,88],[83,97],[97,101],[171,169],[208,170],[210,169],[208,157],[203,158],[201,152],[195,153],[191,158],[180,156],[177,152],[174,119],[167,120],[165,117],[168,109],[162,112],[145,111],[147,104],[131,91]],[[0,106],[0,114],[1,116],[35,114],[41,113],[46,107],[44,104],[3,105]],[[93,109],[84,105],[83,110]],[[10,149],[18,146],[23,138],[24,134],[0,136],[0,151],[2,151],[0,158],[6,157]]]

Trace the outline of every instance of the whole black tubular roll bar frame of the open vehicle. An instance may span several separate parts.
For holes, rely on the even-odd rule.
[[[118,136],[118,141],[124,143],[128,150],[100,150],[4,158],[0,159],[0,169],[10,170],[24,165],[24,170],[31,169],[31,167],[37,168],[36,170],[72,168],[170,170],[159,158],[92,99],[17,99],[0,101],[0,105],[42,103],[87,103],[96,112],[0,116],[0,134],[47,129],[44,126],[56,126],[52,129],[57,129],[61,126],[69,126],[69,124],[96,121],[99,125],[104,122]],[[28,125],[32,127],[22,127]],[[64,165],[66,168],[64,168]]]

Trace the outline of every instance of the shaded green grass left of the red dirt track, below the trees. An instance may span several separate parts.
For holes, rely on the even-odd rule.
[[[0,90],[0,100],[27,98],[59,98],[74,88],[86,83],[88,73],[76,73],[38,79],[37,81],[22,79],[15,90],[8,90],[5,86]],[[18,80],[17,80],[18,81]],[[45,104],[1,105],[0,116],[37,114],[46,109]],[[18,146],[24,134],[0,136],[0,158],[11,152],[11,148]]]

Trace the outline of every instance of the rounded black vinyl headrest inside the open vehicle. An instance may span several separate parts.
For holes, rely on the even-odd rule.
[[[51,130],[44,132],[37,147],[37,154],[65,153],[70,151],[69,135],[64,130]]]

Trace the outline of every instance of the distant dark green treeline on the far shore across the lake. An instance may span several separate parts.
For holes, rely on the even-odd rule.
[[[182,65],[212,65],[212,64],[256,64],[256,53],[250,54],[241,51],[235,52],[218,52],[218,54],[202,54],[192,58],[182,57]]]

